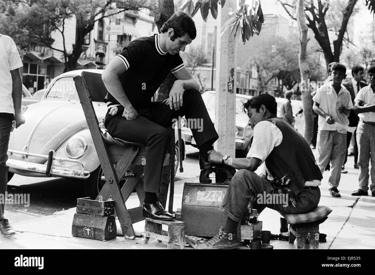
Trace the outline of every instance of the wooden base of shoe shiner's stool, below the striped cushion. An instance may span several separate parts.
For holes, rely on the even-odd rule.
[[[303,249],[306,239],[309,240],[313,249],[319,249],[319,225],[311,225],[306,227],[289,226],[289,242],[294,243],[297,239],[297,248]]]

